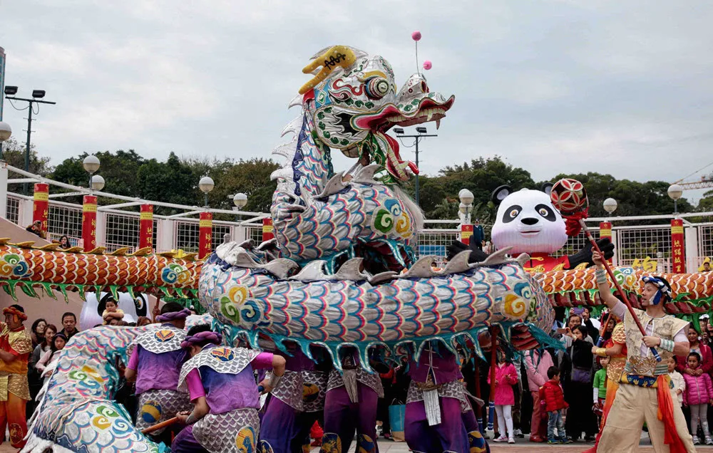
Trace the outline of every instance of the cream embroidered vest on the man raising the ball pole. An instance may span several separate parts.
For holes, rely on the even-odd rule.
[[[634,308],[641,325],[646,330],[647,326],[653,323],[652,335],[663,340],[673,340],[674,335],[688,325],[688,321],[683,321],[674,316],[666,315],[662,318],[652,318],[645,311]],[[637,328],[634,318],[629,311],[624,317],[626,330],[627,363],[624,372],[631,375],[657,376],[668,374],[667,360],[673,357],[673,353],[661,348],[656,348],[661,356],[661,361],[657,362],[650,350],[647,350],[646,357],[641,357],[640,348],[643,342],[643,335]]]

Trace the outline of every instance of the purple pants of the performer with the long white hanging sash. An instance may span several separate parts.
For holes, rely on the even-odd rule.
[[[440,400],[441,423],[434,426],[429,426],[423,401],[409,402],[406,405],[406,444],[414,453],[470,452],[468,433],[461,414],[461,402],[456,398],[442,397]]]

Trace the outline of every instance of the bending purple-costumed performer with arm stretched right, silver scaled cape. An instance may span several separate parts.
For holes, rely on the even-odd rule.
[[[179,412],[185,425],[173,439],[174,453],[255,452],[260,435],[259,392],[254,369],[272,368],[260,382],[269,392],[284,374],[284,358],[245,348],[221,347],[220,333],[194,326],[182,343],[190,359],[183,364],[178,390],[188,390],[193,412]]]

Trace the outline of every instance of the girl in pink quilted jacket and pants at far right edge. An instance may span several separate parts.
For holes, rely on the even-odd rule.
[[[688,368],[697,370],[701,365],[701,356],[699,353],[690,353],[688,355]],[[713,404],[713,385],[711,377],[706,373],[700,375],[684,374],[686,381],[686,390],[683,393],[683,405],[691,407],[691,434],[693,434],[693,444],[699,444],[697,431],[700,423],[703,432],[706,436],[706,445],[713,445],[708,431],[708,405]]]

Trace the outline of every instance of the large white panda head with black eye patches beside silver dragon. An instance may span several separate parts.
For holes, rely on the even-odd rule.
[[[521,189],[513,192],[501,186],[493,192],[500,203],[491,237],[497,249],[512,247],[510,254],[551,254],[567,243],[565,221],[550,201],[552,184],[543,191]]]

